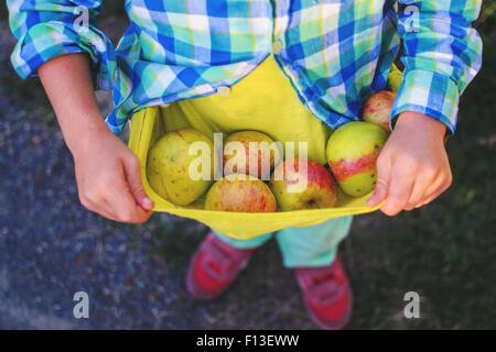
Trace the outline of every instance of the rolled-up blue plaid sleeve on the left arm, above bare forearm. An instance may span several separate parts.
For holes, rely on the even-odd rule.
[[[101,0],[7,0],[9,24],[18,44],[11,55],[15,72],[28,78],[51,58],[88,53],[94,64],[106,51],[107,38],[95,26]]]

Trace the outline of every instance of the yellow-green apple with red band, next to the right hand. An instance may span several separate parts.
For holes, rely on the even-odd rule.
[[[348,122],[331,134],[327,162],[345,194],[360,197],[375,188],[376,162],[387,138],[382,128],[363,121]]]

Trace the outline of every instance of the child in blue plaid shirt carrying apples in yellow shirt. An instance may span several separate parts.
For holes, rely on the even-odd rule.
[[[116,50],[95,28],[100,2],[7,1],[19,40],[13,66],[23,78],[39,74],[87,209],[123,222],[150,217],[139,162],[111,133],[147,106],[169,106],[171,117],[197,113],[225,131],[263,132],[263,120],[279,119],[280,128],[267,133],[305,141],[324,162],[328,128],[358,120],[364,100],[386,88],[400,38],[405,76],[369,205],[384,201],[381,210],[395,216],[450,186],[444,138],[481,66],[482,43],[471,28],[481,1],[134,0],[126,3],[131,25]],[[114,92],[107,124],[91,78]],[[291,129],[295,121],[303,128]],[[343,218],[277,237],[310,317],[324,329],[343,328],[352,311],[336,256],[349,226]],[[188,292],[218,296],[270,237],[241,242],[208,234],[193,256]]]

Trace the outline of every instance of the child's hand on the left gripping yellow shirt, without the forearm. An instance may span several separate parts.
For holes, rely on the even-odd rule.
[[[93,133],[73,148],[79,200],[105,218],[141,223],[153,202],[141,183],[138,157],[109,130]]]

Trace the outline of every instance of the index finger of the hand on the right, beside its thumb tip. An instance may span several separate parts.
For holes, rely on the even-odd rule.
[[[391,180],[388,188],[388,197],[380,210],[393,217],[405,209],[413,189],[414,173],[411,168],[398,165],[391,172]]]

